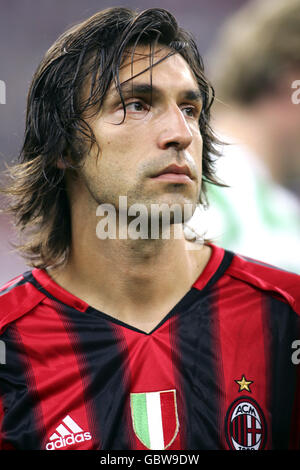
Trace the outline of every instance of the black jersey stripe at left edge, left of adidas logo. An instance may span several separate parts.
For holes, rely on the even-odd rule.
[[[6,349],[6,363],[0,364],[0,395],[4,408],[2,425],[4,447],[15,450],[39,450],[43,431],[37,406],[31,365],[14,325],[1,335]]]

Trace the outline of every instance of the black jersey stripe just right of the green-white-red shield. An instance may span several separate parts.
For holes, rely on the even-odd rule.
[[[215,344],[215,297],[213,289],[198,292],[187,311],[178,314],[173,336],[173,358],[182,395],[181,417],[188,450],[220,449],[220,377]]]

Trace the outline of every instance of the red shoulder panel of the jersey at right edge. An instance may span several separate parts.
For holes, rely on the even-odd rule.
[[[256,289],[269,292],[300,314],[300,276],[276,266],[234,253],[226,274]]]

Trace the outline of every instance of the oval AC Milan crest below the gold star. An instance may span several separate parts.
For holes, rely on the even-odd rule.
[[[225,418],[225,435],[232,450],[261,450],[267,439],[263,412],[253,398],[240,397],[231,403]]]

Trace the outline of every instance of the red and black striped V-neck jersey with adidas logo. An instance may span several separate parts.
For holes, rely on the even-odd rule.
[[[46,271],[6,284],[0,448],[299,449],[300,276],[212,248],[150,333]]]

